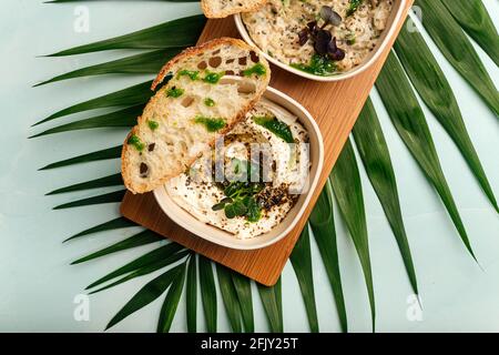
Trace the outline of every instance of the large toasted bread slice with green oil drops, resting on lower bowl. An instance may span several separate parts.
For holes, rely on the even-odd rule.
[[[123,144],[122,175],[133,193],[181,174],[211,149],[216,134],[244,120],[265,91],[271,69],[243,41],[221,38],[173,58],[152,89],[166,77]]]

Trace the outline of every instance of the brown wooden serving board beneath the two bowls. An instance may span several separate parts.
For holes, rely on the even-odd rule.
[[[405,9],[404,19],[410,4]],[[397,33],[403,22],[397,24]],[[238,38],[233,18],[208,20],[200,43],[220,37]],[[271,85],[302,103],[315,118],[324,138],[325,160],[320,180],[304,216],[285,239],[276,244],[255,251],[237,251],[220,246],[197,237],[172,222],[157,205],[154,195],[133,195],[128,192],[121,204],[121,213],[165,237],[184,245],[215,262],[218,262],[264,285],[274,285],[286,264],[289,254],[324,187],[343,145],[360,113],[374,82],[395,41],[370,69],[356,78],[337,82],[315,82],[289,74],[279,68],[272,68]]]

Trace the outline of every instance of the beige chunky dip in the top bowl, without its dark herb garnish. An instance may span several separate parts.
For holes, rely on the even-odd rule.
[[[326,26],[337,39],[345,59],[335,62],[337,72],[360,64],[378,43],[393,9],[393,0],[364,0],[347,16],[349,0],[268,0],[261,9],[242,14],[249,37],[264,52],[286,64],[308,64],[314,54],[313,41],[301,45],[298,32],[308,22],[320,22],[318,13],[329,6],[343,18],[340,26]]]

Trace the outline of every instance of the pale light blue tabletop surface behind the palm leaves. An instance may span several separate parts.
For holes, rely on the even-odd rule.
[[[485,0],[496,24],[499,3]],[[121,306],[144,284],[140,278],[90,298],[90,321],[73,317],[74,297],[105,273],[151,250],[144,246],[79,266],[70,262],[131,235],[132,230],[92,235],[68,244],[61,242],[89,226],[118,215],[118,205],[51,211],[52,206],[96,194],[79,192],[57,196],[43,194],[63,185],[104,176],[118,171],[118,161],[83,164],[48,172],[39,168],[80,153],[116,145],[123,130],[93,130],[28,140],[41,129],[30,129],[40,119],[75,102],[108,93],[144,78],[105,77],[80,79],[31,89],[55,74],[110,58],[124,51],[73,58],[35,58],[77,44],[139,30],[169,19],[197,13],[197,3],[155,1],[102,1],[83,3],[90,9],[90,32],[73,30],[79,4],[42,4],[39,0],[2,1],[0,21],[0,331],[100,332]],[[435,48],[431,43],[431,48]],[[477,94],[435,50],[460,103],[468,131],[496,194],[499,195],[499,124]],[[479,50],[496,84],[499,69]],[[483,271],[467,254],[437,194],[426,182],[401,143],[378,97],[381,124],[391,152],[405,223],[419,277],[422,320],[408,317],[411,290],[395,239],[383,210],[363,173],[364,196],[373,260],[379,332],[499,331],[499,221],[467,165],[441,126],[428,113],[438,153]],[[53,124],[70,122],[79,114]],[[108,189],[113,190],[113,189]],[[103,190],[104,191],[104,190]],[[367,293],[353,244],[337,216],[344,292],[350,331],[369,332]],[[314,282],[320,329],[339,331],[332,292],[315,244]],[[152,278],[152,276],[146,277]],[[293,270],[283,277],[286,331],[308,331],[305,308]],[[410,300],[409,300],[410,301]],[[112,331],[152,332],[161,301],[130,316]],[[201,307],[201,304],[200,304]],[[200,308],[201,310],[201,308]],[[266,331],[262,305],[255,294],[256,329]],[[200,311],[200,317],[202,312]],[[220,329],[228,331],[223,305]],[[200,324],[202,320],[200,318]],[[184,332],[184,304],[179,306],[173,331]]]

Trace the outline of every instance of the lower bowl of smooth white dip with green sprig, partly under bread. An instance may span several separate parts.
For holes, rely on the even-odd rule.
[[[191,233],[231,248],[261,248],[296,225],[323,160],[312,115],[267,88],[242,122],[154,195],[164,213]]]

